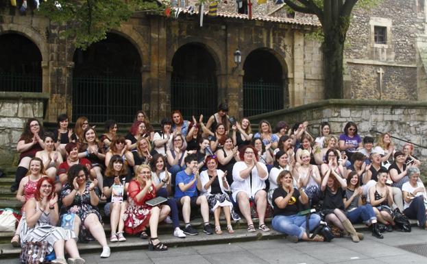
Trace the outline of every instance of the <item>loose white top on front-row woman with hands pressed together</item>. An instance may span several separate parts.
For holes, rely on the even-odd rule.
[[[265,167],[264,163],[258,163],[260,167],[262,167],[265,170],[265,177],[260,178],[258,176],[258,169],[256,169],[256,166],[254,169],[252,169],[252,187],[251,187],[251,176],[247,176],[247,178],[243,179],[240,176],[240,172],[243,171],[243,169],[247,168],[247,165],[243,161],[238,161],[233,166],[233,180],[234,182],[231,184],[231,191],[234,201],[236,201],[236,195],[239,193],[239,191],[244,191],[247,193],[247,196],[249,198],[254,198],[257,191],[261,189],[265,189],[265,180],[268,178],[268,171],[267,167]]]

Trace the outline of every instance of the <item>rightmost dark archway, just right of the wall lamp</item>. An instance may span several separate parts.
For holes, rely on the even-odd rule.
[[[284,108],[283,69],[268,50],[256,49],[243,64],[243,115],[249,117]]]

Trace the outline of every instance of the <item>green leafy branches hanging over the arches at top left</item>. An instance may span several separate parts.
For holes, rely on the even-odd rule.
[[[127,21],[134,12],[162,12],[156,0],[47,0],[40,1],[38,13],[64,25],[60,36],[72,38],[75,46],[86,49],[106,38],[106,33]]]

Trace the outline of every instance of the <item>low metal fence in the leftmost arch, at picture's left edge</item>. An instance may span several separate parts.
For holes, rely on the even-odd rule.
[[[0,91],[42,92],[42,77],[34,73],[0,73]]]

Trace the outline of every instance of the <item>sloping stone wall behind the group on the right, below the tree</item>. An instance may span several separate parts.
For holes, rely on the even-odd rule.
[[[378,136],[374,130],[389,132],[392,136],[426,146],[415,147],[415,156],[422,161],[423,173],[427,173],[427,102],[330,99],[257,115],[250,121],[256,124],[262,119],[267,119],[273,126],[280,120],[291,125],[308,121],[313,136],[319,134],[322,121],[328,121],[332,134],[337,136],[343,133],[348,121],[358,124],[358,133],[362,137]],[[393,143],[398,149],[404,145],[404,141],[397,139],[393,139]]]

